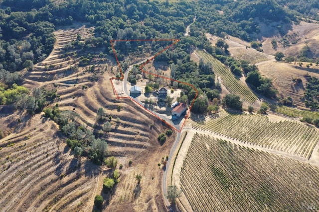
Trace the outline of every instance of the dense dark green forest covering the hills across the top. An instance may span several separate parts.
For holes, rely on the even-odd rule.
[[[33,64],[47,57],[55,42],[52,34],[54,28],[70,25],[73,21],[94,25],[95,37],[86,41],[85,48],[99,46],[104,49],[105,55],[110,56],[113,55],[112,39],[180,39],[173,49],[160,55],[157,60],[169,63],[172,78],[193,84],[198,88],[199,95],[204,95],[206,99],[219,97],[220,85],[213,82],[211,65],[197,66],[190,60],[189,53],[194,47],[205,49],[230,67],[235,75],[241,75],[242,71],[248,74],[247,82],[253,89],[274,98],[276,92],[271,88],[269,79],[261,78],[256,70],[251,73],[245,71],[247,65],[230,57],[226,45],[224,47],[219,43],[212,47],[203,33],[221,37],[230,34],[252,41],[253,34],[260,30],[261,22],[291,23],[298,22],[300,18],[318,19],[318,8],[317,1],[303,4],[301,1],[285,0],[3,0],[0,9],[0,104],[20,102],[16,104],[20,108],[40,111],[43,103],[28,99],[34,98],[34,92],[26,97],[32,91],[17,89],[23,78],[20,70],[32,69]],[[194,17],[196,21],[191,25],[190,36],[183,36],[185,27]],[[116,45],[120,59],[136,49],[134,46]],[[155,44],[153,50],[159,51],[160,48],[160,44]],[[254,79],[257,81],[252,82]],[[186,91],[189,100],[194,97],[194,91],[189,86],[179,86]],[[54,91],[50,92],[46,95],[47,91],[41,90],[41,98],[54,99]],[[34,104],[28,105],[27,102]]]

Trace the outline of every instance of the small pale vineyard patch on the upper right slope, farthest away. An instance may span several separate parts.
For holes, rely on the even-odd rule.
[[[252,48],[246,49],[245,47],[230,48],[229,51],[234,55],[237,60],[245,60],[250,64],[256,64],[263,61],[269,61],[270,58],[266,57],[264,53],[258,52]]]

